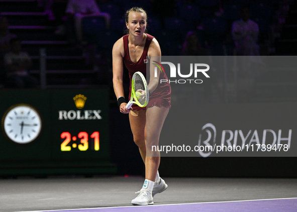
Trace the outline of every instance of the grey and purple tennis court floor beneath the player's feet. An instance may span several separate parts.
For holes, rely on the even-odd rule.
[[[154,205],[132,206],[143,177],[0,180],[0,211],[297,211],[297,179],[164,178]]]

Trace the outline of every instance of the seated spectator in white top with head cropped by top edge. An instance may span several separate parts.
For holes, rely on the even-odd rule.
[[[68,23],[69,21],[74,23],[76,37],[79,42],[82,41],[81,21],[84,17],[104,17],[107,29],[110,28],[110,15],[108,13],[102,13],[94,0],[69,0],[66,8],[66,15]],[[67,28],[69,27],[71,26],[67,26]]]

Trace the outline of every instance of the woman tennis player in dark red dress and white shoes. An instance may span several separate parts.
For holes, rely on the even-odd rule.
[[[153,196],[167,188],[165,181],[160,178],[159,152],[147,155],[147,146],[158,145],[159,136],[165,118],[171,107],[171,88],[169,83],[159,83],[160,79],[168,79],[164,71],[157,69],[154,73],[152,63],[161,63],[161,49],[157,40],[146,33],[147,14],[142,8],[132,8],[125,14],[127,35],[120,38],[113,47],[113,84],[118,99],[120,112],[129,114],[133,139],[139,147],[145,163],[145,181],[139,195],[132,200],[134,205],[153,204]],[[147,59],[147,56],[149,59]],[[154,61],[154,62],[153,62]],[[123,62],[129,70],[130,94],[131,79],[135,72],[140,71],[146,76],[146,65],[150,64],[150,79],[148,89],[149,103],[146,108],[133,104],[130,110],[126,108],[123,88]],[[153,156],[153,157],[152,157]]]

